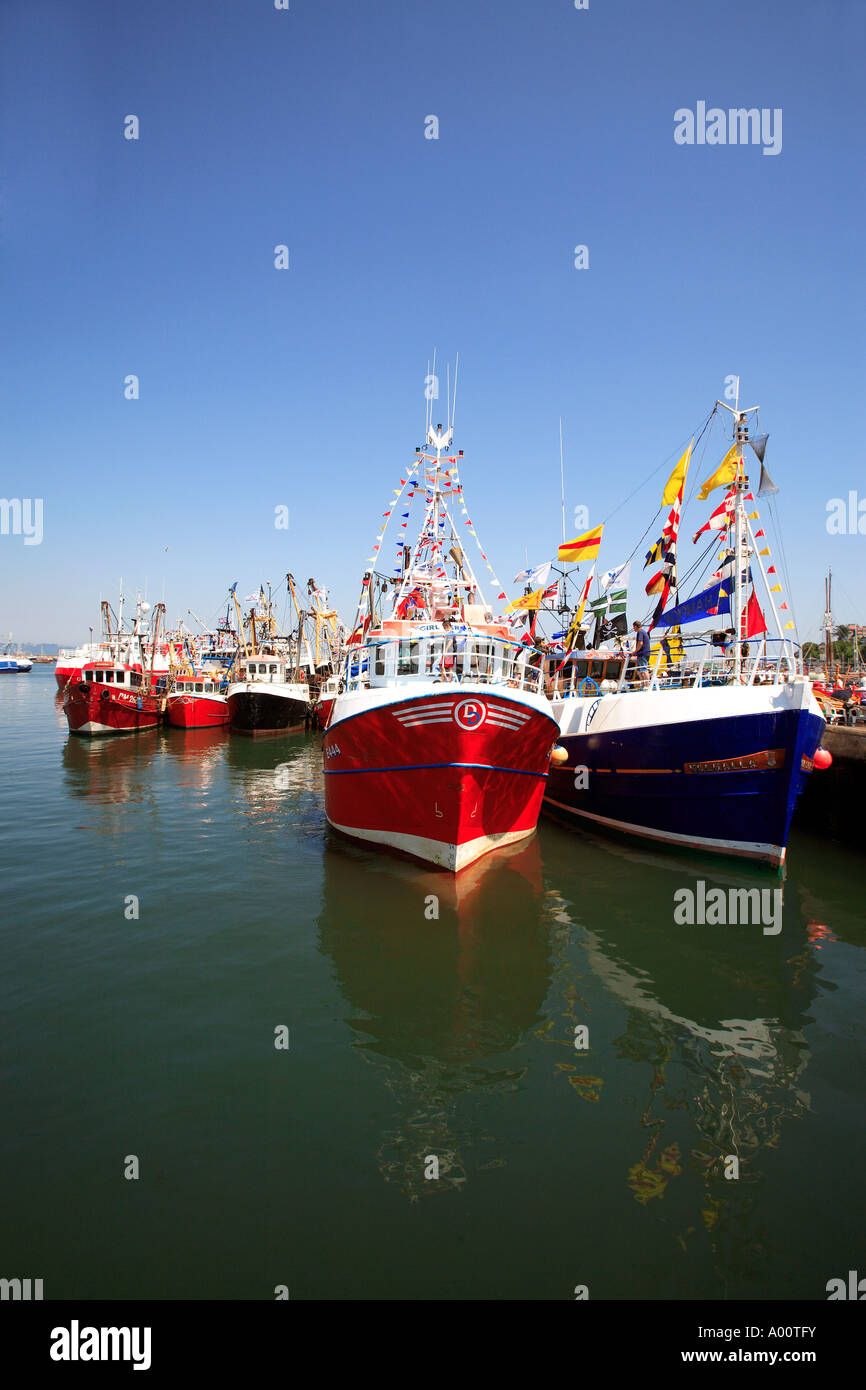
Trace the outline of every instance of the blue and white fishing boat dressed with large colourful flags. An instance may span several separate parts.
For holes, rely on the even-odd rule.
[[[705,430],[720,409],[734,417],[734,442],[702,496],[723,485],[727,492],[695,535],[696,543],[709,531],[698,567],[720,569],[709,587],[680,599],[677,532],[689,445],[664,491],[663,506],[673,503],[664,531],[646,556],[660,564],[646,585],[659,595],[648,627],[662,635],[651,657],[635,662],[617,637],[619,651],[605,642],[580,651],[574,641],[563,659],[546,663],[567,756],[552,767],[545,812],[571,826],[781,866],[824,717],[803,673],[791,610],[777,600],[776,566],[765,569],[766,535],[752,524],[758,512],[746,512],[756,505],[745,471],[749,446],[760,460],[758,496],[771,502],[777,491],[763,463],[767,436],[749,439],[758,407],[716,402]],[[720,539],[726,549],[716,560]],[[603,621],[605,595],[595,607]],[[684,626],[708,621],[709,631],[683,637]]]

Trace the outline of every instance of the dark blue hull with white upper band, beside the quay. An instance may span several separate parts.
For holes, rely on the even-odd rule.
[[[559,742],[569,758],[550,770],[544,809],[780,866],[823,730],[802,684],[566,701]]]

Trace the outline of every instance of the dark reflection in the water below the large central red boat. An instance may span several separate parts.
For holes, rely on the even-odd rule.
[[[509,1054],[538,1026],[550,984],[538,841],[456,878],[338,835],[324,863],[320,945],[356,1011],[354,1047],[398,1102],[377,1154],[382,1176],[416,1201],[466,1182],[468,1145],[491,1145],[475,1168],[502,1166],[495,1138],[457,1122],[456,1106],[467,1093],[512,1091],[524,1076]],[[428,1155],[438,1182],[424,1176]]]

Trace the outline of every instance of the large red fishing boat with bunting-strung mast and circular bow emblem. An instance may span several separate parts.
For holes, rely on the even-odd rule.
[[[322,749],[334,830],[459,873],[534,834],[557,727],[539,666],[493,617],[466,555],[461,450],[445,457],[452,410],[442,430],[428,409],[427,449],[377,537]],[[385,574],[375,566],[388,521],[399,538],[409,509],[398,499],[416,493],[418,538],[399,539]]]

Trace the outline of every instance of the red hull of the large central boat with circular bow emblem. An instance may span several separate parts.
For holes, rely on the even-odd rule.
[[[325,815],[345,835],[459,873],[535,831],[556,723],[491,687],[338,695]]]

